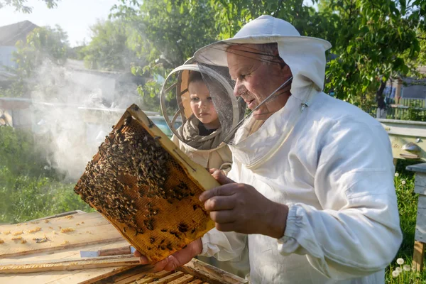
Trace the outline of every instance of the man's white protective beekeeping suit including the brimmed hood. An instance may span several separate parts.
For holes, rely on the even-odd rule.
[[[391,145],[376,119],[321,92],[329,43],[271,16],[226,42],[278,43],[294,77],[285,107],[251,135],[246,121],[231,146],[228,177],[290,208],[281,239],[249,235],[251,283],[384,283],[402,240]],[[217,45],[197,60],[226,65]],[[226,260],[245,241],[213,229],[202,244],[202,255]]]

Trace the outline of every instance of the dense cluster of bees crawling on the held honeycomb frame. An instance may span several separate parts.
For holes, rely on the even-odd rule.
[[[104,143],[99,146],[100,159],[97,163],[90,161],[85,175],[75,192],[82,196],[84,202],[92,204],[102,213],[109,215],[120,223],[134,229],[136,234],[143,234],[145,229],[153,230],[153,216],[158,214],[148,204],[144,228],[136,224],[135,214],[138,211],[125,192],[131,189],[123,180],[136,177],[139,197],[160,197],[173,203],[188,195],[194,195],[184,182],[175,188],[164,188],[165,177],[168,176],[168,161],[173,163],[170,155],[160,146],[145,129],[138,129],[138,135],[131,127],[132,116],[128,116],[121,129],[109,133]],[[126,128],[126,131],[122,131]],[[141,133],[142,132],[142,133]],[[142,134],[142,135],[141,135]],[[177,163],[175,167],[180,167]]]

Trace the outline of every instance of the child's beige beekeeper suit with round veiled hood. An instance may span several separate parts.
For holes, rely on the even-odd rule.
[[[232,94],[233,86],[229,80],[229,74],[223,74],[223,72],[220,74],[212,68],[214,67],[204,65],[200,70],[193,58],[175,68],[163,84],[161,104],[165,120],[173,131],[172,141],[179,146],[180,150],[204,168],[216,168],[228,173],[231,169],[232,154],[224,143],[224,138],[231,129],[236,129],[236,124],[244,116],[246,104],[243,100],[237,100]],[[194,80],[191,79],[191,72],[202,74],[196,77],[197,80]],[[204,129],[202,121],[197,119],[192,111],[190,107],[192,94],[189,92],[191,80],[192,83],[201,81],[207,87],[220,121],[217,129],[211,131]],[[170,103],[166,103],[167,98],[170,97],[176,100],[173,110],[170,110]],[[175,115],[169,116],[170,112]],[[174,121],[178,116],[182,119],[183,124],[176,128]],[[245,277],[249,273],[247,249],[241,253],[241,256],[231,261],[217,261],[216,258],[202,256],[199,259],[241,277]]]

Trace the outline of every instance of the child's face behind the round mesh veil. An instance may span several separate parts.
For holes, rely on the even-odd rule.
[[[207,128],[218,128],[220,126],[219,118],[207,86],[200,81],[191,82],[188,91],[190,92],[192,113],[195,114],[195,117]]]

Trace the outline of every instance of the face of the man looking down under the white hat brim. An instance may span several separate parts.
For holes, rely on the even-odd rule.
[[[249,109],[257,107],[291,76],[288,65],[265,62],[255,45],[235,45],[227,50],[229,74],[235,80],[234,95],[241,97]],[[278,50],[277,54],[278,55]],[[253,112],[254,119],[266,120],[284,107],[290,96],[290,86],[278,91],[273,98]]]

